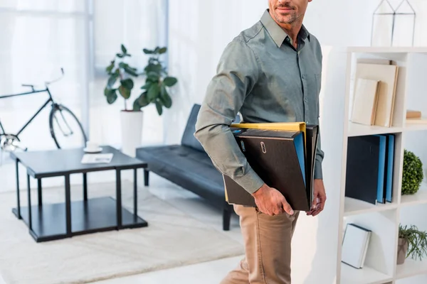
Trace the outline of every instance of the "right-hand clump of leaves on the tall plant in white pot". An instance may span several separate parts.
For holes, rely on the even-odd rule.
[[[167,73],[166,67],[160,61],[160,55],[167,52],[167,48],[155,48],[154,50],[145,49],[143,52],[149,55],[147,66],[144,68],[145,84],[141,87],[142,94],[134,102],[133,109],[139,110],[148,104],[155,104],[157,112],[162,115],[163,108],[172,107],[172,99],[169,95],[169,87],[178,82],[175,77]]]

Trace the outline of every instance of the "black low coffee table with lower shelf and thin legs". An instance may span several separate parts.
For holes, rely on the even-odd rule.
[[[102,153],[113,153],[111,163],[83,164],[83,149],[34,151],[11,153],[16,161],[16,197],[18,206],[12,212],[28,225],[37,241],[53,241],[71,236],[100,231],[132,229],[148,226],[137,215],[137,169],[147,163],[131,158],[115,148],[102,146]],[[19,163],[26,167],[28,207],[21,207],[19,197]],[[87,174],[102,170],[115,170],[116,199],[101,197],[88,199]],[[134,212],[122,208],[121,171],[133,170]],[[83,174],[83,199],[71,202],[70,175]],[[31,205],[30,176],[38,180],[38,204]],[[65,203],[43,204],[41,181],[43,178],[65,178]]]

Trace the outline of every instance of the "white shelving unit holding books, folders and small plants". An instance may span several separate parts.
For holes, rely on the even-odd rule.
[[[336,251],[334,283],[427,283],[427,260],[408,258],[404,265],[396,265],[399,224],[414,224],[418,229],[427,230],[427,185],[423,185],[416,195],[401,196],[404,149],[421,158],[427,179],[427,124],[406,124],[406,109],[418,109],[427,116],[427,48],[335,48],[328,58],[320,119],[322,149],[325,151],[324,179],[330,200],[327,203],[330,223],[322,223],[325,226],[322,229],[330,233],[322,236],[325,236],[325,246],[331,252]],[[359,58],[393,60],[400,67],[393,126],[390,128],[362,126],[349,121],[354,72]],[[383,133],[396,135],[392,202],[374,205],[345,197],[347,139]],[[373,232],[362,269],[341,262],[341,244],[348,222]],[[332,241],[327,242],[326,236]],[[322,269],[330,268],[325,264]],[[332,282],[328,279],[326,283]]]

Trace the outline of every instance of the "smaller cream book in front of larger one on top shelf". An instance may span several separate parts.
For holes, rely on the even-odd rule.
[[[351,121],[357,124],[374,125],[378,104],[379,81],[357,79]]]

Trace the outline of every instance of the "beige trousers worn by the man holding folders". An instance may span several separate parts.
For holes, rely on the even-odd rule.
[[[299,212],[268,216],[234,205],[246,256],[221,284],[290,284],[290,243]]]

